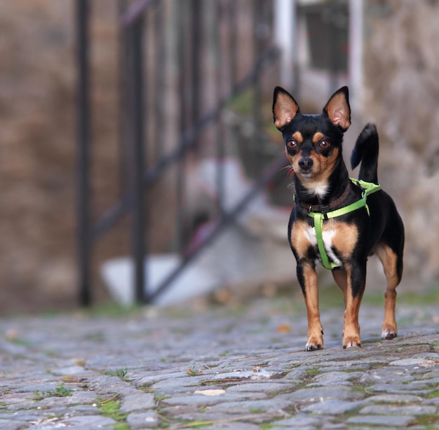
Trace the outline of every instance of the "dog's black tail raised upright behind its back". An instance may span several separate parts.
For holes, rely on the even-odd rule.
[[[378,183],[378,132],[374,124],[369,123],[360,132],[351,155],[351,168],[355,169],[361,162],[358,179]]]

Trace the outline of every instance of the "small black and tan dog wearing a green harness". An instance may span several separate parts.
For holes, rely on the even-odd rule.
[[[377,178],[378,134],[368,124],[351,156],[360,162],[358,181],[342,158],[343,134],[351,125],[347,87],[330,97],[320,115],[303,115],[283,88],[273,95],[274,125],[283,134],[294,171],[295,205],[288,239],[297,261],[297,279],[306,303],[306,351],[323,348],[316,263],[332,270],[343,291],[343,347],[360,347],[358,311],[365,289],[367,257],[377,254],[387,279],[382,338],[396,337],[396,286],[403,274],[404,227],[391,197]]]

